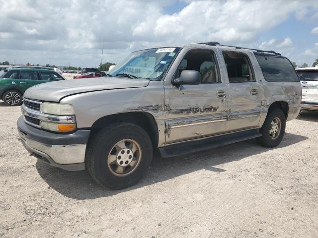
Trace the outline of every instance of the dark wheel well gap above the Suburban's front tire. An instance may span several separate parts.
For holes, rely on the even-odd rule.
[[[91,136],[93,136],[99,129],[116,122],[129,122],[142,127],[151,138],[153,147],[158,147],[159,132],[157,122],[153,115],[145,112],[112,114],[97,119],[91,126]]]

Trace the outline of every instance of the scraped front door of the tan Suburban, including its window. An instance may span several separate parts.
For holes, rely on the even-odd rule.
[[[210,50],[191,50],[179,64],[182,70],[196,70],[201,84],[164,86],[166,144],[222,133],[227,125],[227,85],[221,80],[216,55]]]

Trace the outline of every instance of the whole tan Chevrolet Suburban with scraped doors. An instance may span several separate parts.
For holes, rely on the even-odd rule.
[[[145,176],[154,148],[173,157],[251,138],[275,147],[300,111],[287,58],[208,42],[136,51],[105,77],[34,86],[17,127],[38,159],[121,189]]]

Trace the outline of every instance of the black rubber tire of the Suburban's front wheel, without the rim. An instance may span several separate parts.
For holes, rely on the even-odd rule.
[[[140,145],[141,159],[131,174],[120,177],[113,174],[107,161],[116,143],[125,139],[135,140]],[[138,125],[116,122],[100,129],[92,137],[87,145],[85,162],[97,183],[111,189],[122,189],[134,185],[147,174],[152,158],[153,146],[148,133]]]

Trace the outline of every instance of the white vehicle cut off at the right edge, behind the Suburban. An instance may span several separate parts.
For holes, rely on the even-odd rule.
[[[296,71],[302,83],[302,109],[318,110],[318,65]]]

